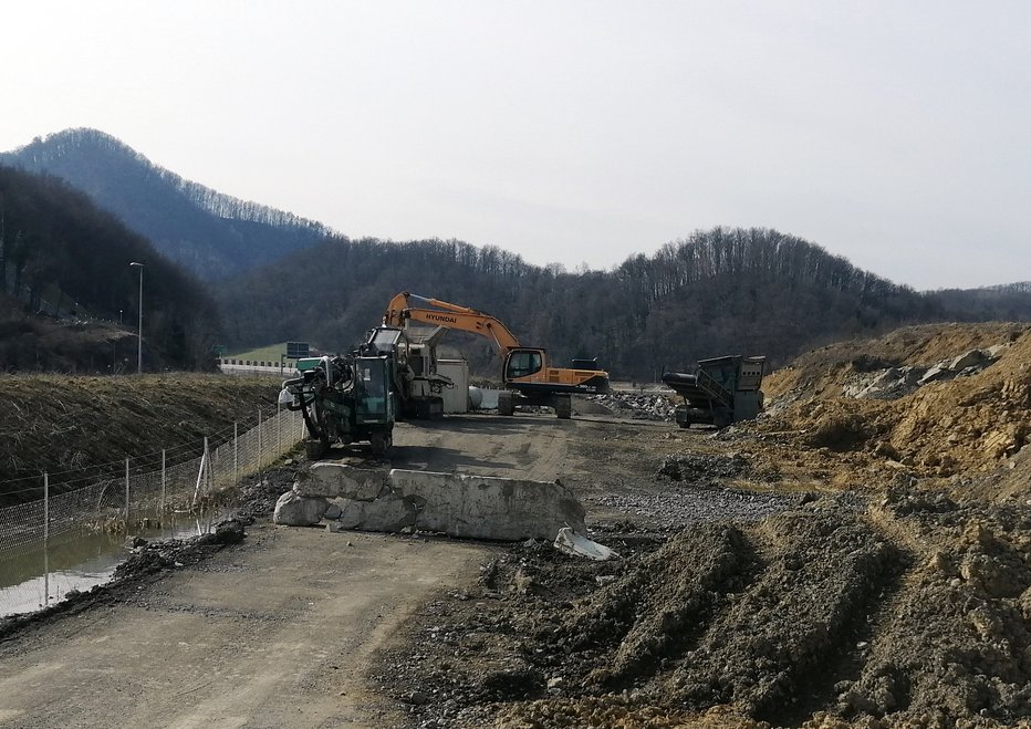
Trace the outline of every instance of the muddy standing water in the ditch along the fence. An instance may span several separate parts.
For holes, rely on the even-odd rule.
[[[218,512],[200,518],[173,513],[157,525],[155,515],[149,519],[155,525],[135,533],[148,540],[181,539],[206,533],[221,518]],[[72,590],[104,584],[127,554],[125,541],[123,533],[84,531],[52,540],[45,550],[39,544],[0,555],[0,617],[31,613],[61,602]]]

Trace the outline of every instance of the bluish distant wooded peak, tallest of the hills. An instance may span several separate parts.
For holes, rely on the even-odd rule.
[[[320,223],[185,180],[96,129],[37,138],[0,154],[0,164],[66,179],[208,281],[269,263],[327,235]]]

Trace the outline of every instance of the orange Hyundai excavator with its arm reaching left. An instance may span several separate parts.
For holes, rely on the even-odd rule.
[[[501,357],[501,378],[507,388],[498,396],[498,413],[512,415],[517,404],[546,405],[560,418],[572,417],[573,394],[608,392],[608,373],[596,360],[573,360],[572,368],[553,367],[540,347],[522,346],[498,319],[476,309],[419,296],[404,291],[387,304],[384,326],[404,327],[409,322],[442,326],[486,336]]]

